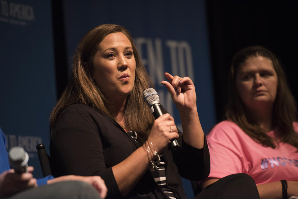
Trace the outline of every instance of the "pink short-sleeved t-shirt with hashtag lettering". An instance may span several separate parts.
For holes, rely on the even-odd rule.
[[[298,124],[294,123],[298,132]],[[270,131],[274,136],[276,132]],[[279,148],[263,147],[231,121],[217,124],[207,135],[211,171],[208,178],[223,178],[230,174],[249,174],[256,184],[298,180],[298,153],[290,144]]]

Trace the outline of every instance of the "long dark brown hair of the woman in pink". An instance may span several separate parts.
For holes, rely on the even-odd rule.
[[[280,142],[289,143],[298,149],[298,134],[294,131],[293,122],[297,121],[296,102],[288,87],[287,80],[277,57],[268,49],[261,46],[246,47],[236,53],[233,58],[228,79],[228,105],[226,117],[236,123],[248,136],[265,147],[276,148],[278,142],[275,138],[267,135],[253,118],[249,118],[244,104],[236,89],[236,75],[244,62],[250,57],[265,57],[272,61],[278,77],[277,94],[273,105],[273,127],[279,134]]]

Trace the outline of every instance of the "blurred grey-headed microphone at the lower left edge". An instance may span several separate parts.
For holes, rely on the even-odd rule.
[[[27,173],[28,153],[22,147],[12,147],[8,152],[9,164],[15,173]]]

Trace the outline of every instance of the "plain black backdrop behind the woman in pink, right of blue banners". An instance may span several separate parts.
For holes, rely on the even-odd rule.
[[[232,57],[247,46],[261,45],[277,55],[297,102],[298,1],[208,0],[206,3],[217,121],[224,116]]]

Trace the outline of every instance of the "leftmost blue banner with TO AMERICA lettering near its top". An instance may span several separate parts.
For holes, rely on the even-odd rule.
[[[49,146],[56,103],[51,1],[0,1],[0,126],[42,177],[36,145]]]

